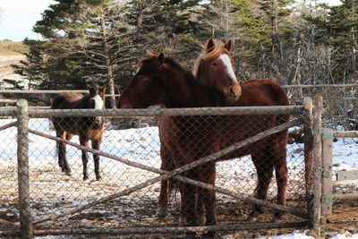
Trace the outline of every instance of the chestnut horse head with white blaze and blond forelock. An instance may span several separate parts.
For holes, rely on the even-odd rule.
[[[210,38],[195,62],[193,73],[199,81],[216,88],[224,98],[235,101],[241,96],[241,86],[234,74],[231,46],[231,40],[223,47],[218,40]]]

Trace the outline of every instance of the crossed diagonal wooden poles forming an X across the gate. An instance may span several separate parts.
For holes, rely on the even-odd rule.
[[[59,215],[53,215],[51,217],[47,217],[47,218],[42,218],[42,219],[39,219],[37,221],[34,222],[34,224],[38,224],[38,223],[42,223],[42,222],[45,222],[47,220],[50,220],[50,219],[55,219],[55,218],[62,218],[62,217],[65,217],[67,215],[70,215],[70,214],[73,214],[75,212],[79,212],[83,209],[89,209],[90,207],[93,207],[94,205],[97,205],[98,203],[103,203],[103,202],[106,202],[106,201],[110,201],[110,200],[113,200],[115,198],[118,198],[118,197],[122,197],[124,195],[128,195],[132,192],[135,192],[135,191],[138,191],[144,187],[147,187],[151,184],[156,184],[157,182],[161,181],[161,180],[165,180],[169,177],[172,177],[172,176],[175,176],[175,179],[177,180],[180,180],[180,181],[183,181],[185,183],[188,183],[188,184],[194,184],[196,186],[200,186],[200,187],[204,187],[204,188],[207,188],[209,190],[215,190],[216,192],[221,192],[221,193],[224,193],[224,194],[227,194],[227,195],[231,195],[231,196],[234,196],[235,198],[238,198],[238,199],[241,199],[243,201],[249,201],[251,203],[255,203],[255,204],[258,204],[258,205],[262,205],[262,206],[265,206],[265,207],[268,207],[268,208],[271,208],[271,209],[278,209],[278,210],[283,210],[283,211],[286,211],[286,212],[289,212],[289,213],[292,213],[298,217],[302,217],[302,218],[306,218],[306,214],[304,214],[302,211],[300,210],[295,210],[295,209],[291,209],[289,207],[286,207],[286,206],[281,206],[281,205],[276,205],[276,204],[273,204],[273,203],[270,203],[268,201],[260,201],[260,200],[257,200],[257,199],[253,199],[243,193],[237,193],[237,192],[229,192],[225,189],[221,189],[221,188],[218,188],[218,187],[215,187],[214,185],[212,184],[203,184],[203,183],[200,183],[200,182],[196,182],[192,179],[189,179],[189,178],[184,178],[183,176],[177,176],[187,170],[190,170],[196,166],[199,166],[201,164],[204,164],[204,163],[208,163],[210,161],[214,161],[216,160],[217,158],[221,158],[223,156],[225,156],[226,154],[228,153],[231,153],[233,152],[234,150],[237,150],[237,149],[240,149],[240,148],[243,148],[244,146],[246,145],[249,145],[255,141],[260,141],[262,138],[264,137],[267,137],[268,135],[271,135],[271,134],[274,134],[274,133],[277,133],[277,132],[280,132],[280,131],[283,131],[283,130],[286,130],[287,128],[290,128],[294,125],[297,125],[300,123],[300,119],[296,119],[294,121],[290,121],[288,123],[285,123],[285,124],[280,124],[274,128],[271,128],[271,129],[268,129],[267,131],[264,131],[264,132],[260,132],[244,141],[240,141],[240,142],[237,142],[229,147],[227,147],[226,149],[222,149],[222,150],[219,150],[217,151],[216,153],[212,154],[212,155],[209,155],[207,157],[204,157],[204,158],[200,158],[186,166],[182,166],[182,167],[179,167],[179,168],[176,168],[175,170],[171,171],[171,172],[166,172],[166,171],[163,171],[163,170],[160,170],[158,168],[154,168],[154,167],[150,167],[150,166],[144,166],[144,165],[141,165],[140,163],[136,163],[136,162],[132,162],[130,160],[127,160],[125,158],[118,158],[118,157],[115,157],[111,154],[108,154],[108,153],[105,153],[105,152],[102,152],[100,150],[96,150],[96,149],[90,149],[90,148],[87,148],[87,147],[83,147],[81,145],[78,145],[78,144],[75,144],[75,143],[72,143],[71,141],[64,141],[60,138],[57,138],[55,136],[51,136],[51,135],[48,135],[48,134],[45,134],[45,133],[41,133],[41,132],[36,132],[36,131],[32,131],[32,130],[29,130],[31,133],[34,133],[34,134],[37,134],[39,136],[46,136],[48,139],[52,139],[52,140],[55,140],[55,141],[63,141],[69,145],[72,145],[73,147],[76,147],[78,149],[83,149],[83,150],[86,150],[86,151],[89,151],[91,153],[94,153],[94,154],[98,154],[100,156],[103,156],[103,157],[107,157],[107,158],[112,158],[112,159],[115,159],[116,161],[119,161],[119,162],[122,162],[126,165],[129,165],[129,166],[136,166],[136,167],[139,167],[141,169],[144,169],[144,170],[148,170],[148,171],[151,171],[151,172],[154,172],[154,173],[158,173],[158,174],[162,174],[158,177],[155,177],[155,178],[152,178],[152,179],[149,179],[147,180],[146,182],[142,183],[142,184],[138,184],[132,188],[128,188],[126,190],[124,190],[123,192],[117,192],[115,194],[112,194],[110,196],[107,196],[103,199],[100,199],[98,201],[93,201],[93,202],[90,202],[86,205],[82,205],[76,209],[72,209],[72,210],[68,210],[67,212],[64,212],[63,214],[59,214]]]

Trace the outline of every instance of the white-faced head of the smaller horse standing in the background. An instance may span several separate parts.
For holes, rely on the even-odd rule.
[[[106,86],[98,86],[97,84],[89,86],[90,91],[90,100],[89,100],[89,108],[92,109],[102,109],[105,105],[105,93]],[[95,129],[99,129],[102,127],[104,121],[101,116],[93,117],[92,126]]]

